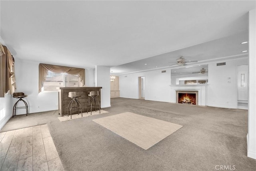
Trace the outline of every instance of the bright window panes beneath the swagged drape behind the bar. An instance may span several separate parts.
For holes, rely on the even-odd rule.
[[[48,71],[42,91],[56,91],[56,87],[79,87],[79,76]]]

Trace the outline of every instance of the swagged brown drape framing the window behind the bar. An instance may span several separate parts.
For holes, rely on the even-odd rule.
[[[68,73],[71,75],[78,75],[80,80],[80,87],[85,85],[85,70],[83,68],[74,68],[67,66],[58,66],[51,64],[39,64],[39,84],[38,93],[42,91],[44,82],[46,81],[47,72],[51,71],[54,73]]]

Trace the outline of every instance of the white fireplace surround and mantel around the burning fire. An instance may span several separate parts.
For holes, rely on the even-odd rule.
[[[198,91],[197,105],[206,106],[206,92],[208,84],[195,84],[195,85],[170,85],[171,87],[171,102],[177,103],[177,91]]]

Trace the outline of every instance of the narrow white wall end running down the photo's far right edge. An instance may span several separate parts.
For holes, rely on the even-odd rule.
[[[249,11],[249,106],[247,156],[256,159],[256,11]]]

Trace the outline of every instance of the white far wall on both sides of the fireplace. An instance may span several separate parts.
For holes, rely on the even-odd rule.
[[[206,105],[213,107],[237,108],[237,66],[248,64],[248,58],[220,61],[208,64],[208,85]],[[161,70],[119,76],[120,97],[138,99],[138,77],[145,76],[145,99],[171,102],[171,74]],[[179,77],[179,76],[177,76]],[[230,80],[228,80],[230,78]],[[174,77],[176,80],[176,77]],[[228,83],[228,81],[230,83]]]

